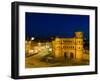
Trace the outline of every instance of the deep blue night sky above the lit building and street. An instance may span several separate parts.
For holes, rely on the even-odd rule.
[[[89,37],[88,15],[26,12],[25,18],[26,37],[72,37],[76,31],[82,31],[84,37]]]

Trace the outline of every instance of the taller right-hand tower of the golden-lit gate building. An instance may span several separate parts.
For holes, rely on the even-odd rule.
[[[83,32],[75,32],[76,59],[81,60],[83,55]]]

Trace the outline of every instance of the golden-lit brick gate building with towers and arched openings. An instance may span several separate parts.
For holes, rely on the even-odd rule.
[[[56,37],[52,41],[55,59],[78,59],[83,56],[83,32],[75,32],[73,38]]]

